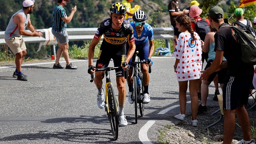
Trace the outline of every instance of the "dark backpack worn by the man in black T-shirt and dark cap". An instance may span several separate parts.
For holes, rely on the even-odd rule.
[[[238,43],[241,44],[242,61],[250,65],[256,65],[256,40],[251,32],[233,25],[224,25],[220,28],[224,27],[230,27],[236,32]]]

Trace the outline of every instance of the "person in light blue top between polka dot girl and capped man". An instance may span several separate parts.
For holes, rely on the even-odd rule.
[[[204,44],[203,44],[203,52],[208,53],[208,60],[207,60],[207,64],[204,68],[204,70],[206,70],[207,68],[209,68],[212,64],[212,61],[215,58],[215,52],[214,52],[214,35],[217,31],[216,28],[212,28],[210,26],[211,32],[207,33],[204,39]],[[226,61],[225,57],[223,57],[222,62]],[[223,90],[223,84],[224,84],[224,78],[227,76],[228,73],[228,68],[223,68],[220,71],[217,72],[213,72],[209,78],[207,79],[207,81],[203,81],[202,82],[202,89],[201,89],[201,94],[202,94],[202,101],[201,104],[198,106],[198,111],[206,111],[207,107],[206,107],[206,101],[207,101],[207,97],[209,94],[209,85],[211,84],[212,81],[214,81],[214,78],[218,75],[218,81],[220,83],[220,87]],[[215,84],[215,83],[214,83]],[[218,86],[218,83],[217,83]],[[217,98],[218,100],[218,98]]]

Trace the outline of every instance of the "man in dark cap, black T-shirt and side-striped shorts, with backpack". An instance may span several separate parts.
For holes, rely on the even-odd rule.
[[[224,23],[224,12],[219,6],[213,6],[206,14],[209,16],[210,24],[218,31],[214,35],[216,52],[212,65],[202,71],[201,79],[207,80],[209,76],[217,69],[228,67],[228,75],[224,80],[223,86],[223,112],[224,112],[224,137],[223,144],[231,144],[235,132],[236,116],[240,122],[244,139],[239,144],[255,144],[250,131],[250,119],[244,105],[248,102],[248,93],[252,84],[254,73],[253,64],[244,62],[242,53],[246,53],[244,45],[253,41],[250,45],[256,43],[252,36],[245,34],[246,31],[236,27],[228,26]],[[255,49],[255,47],[254,47]],[[228,62],[222,63],[225,56]]]

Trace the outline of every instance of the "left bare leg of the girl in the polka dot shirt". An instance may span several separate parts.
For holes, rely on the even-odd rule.
[[[188,81],[179,81],[180,114],[185,115],[187,104]]]

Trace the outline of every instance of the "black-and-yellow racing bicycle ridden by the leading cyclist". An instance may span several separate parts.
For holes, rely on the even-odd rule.
[[[108,115],[108,121],[111,126],[112,135],[115,140],[118,138],[118,127],[119,125],[119,115],[118,115],[118,104],[114,93],[113,85],[110,81],[110,70],[115,69],[121,69],[122,67],[107,67],[107,68],[98,68],[95,71],[105,71],[106,75],[106,97],[105,97],[105,111]],[[127,69],[126,69],[126,75],[128,75]],[[91,80],[90,82],[93,82],[94,75],[91,74]],[[126,76],[125,76],[126,78]]]

